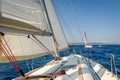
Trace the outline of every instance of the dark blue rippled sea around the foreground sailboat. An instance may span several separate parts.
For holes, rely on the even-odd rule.
[[[94,45],[91,49],[85,49],[83,45],[71,45],[68,50],[60,52],[60,57],[68,56],[73,52],[99,62],[109,70],[110,54],[113,54],[115,56],[118,76],[120,77],[120,45],[102,45],[102,47]],[[45,65],[51,60],[53,60],[53,57],[51,55],[46,55],[35,59],[19,61],[19,64],[24,73],[26,73],[32,69]],[[9,62],[0,63],[0,80],[11,80],[18,76],[18,72]]]

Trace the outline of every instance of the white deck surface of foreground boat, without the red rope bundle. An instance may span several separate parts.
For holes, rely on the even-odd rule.
[[[117,80],[116,77],[112,77],[111,73],[100,64],[91,60],[89,61],[91,63],[91,67],[89,66],[86,58],[80,55],[70,55],[68,57],[64,57],[57,63],[47,64],[46,66],[32,72],[28,76],[47,75],[51,72],[65,70],[66,74],[57,76],[55,80]],[[78,62],[80,63],[80,68],[78,66]],[[39,78],[32,80],[45,79]]]

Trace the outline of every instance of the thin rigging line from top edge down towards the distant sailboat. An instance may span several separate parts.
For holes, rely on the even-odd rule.
[[[84,40],[83,40],[83,36],[82,36],[82,33],[81,33],[81,29],[80,29],[80,25],[79,25],[79,22],[78,22],[78,18],[77,18],[77,16],[76,16],[75,11],[74,11],[73,6],[72,6],[72,1],[69,0],[69,3],[70,3],[70,8],[71,8],[71,10],[72,10],[72,14],[74,15],[74,18],[75,18],[75,22],[76,22],[76,24],[77,24],[78,31],[79,31],[79,33],[80,33],[80,36],[81,36],[82,42],[83,42],[83,41],[84,41]]]

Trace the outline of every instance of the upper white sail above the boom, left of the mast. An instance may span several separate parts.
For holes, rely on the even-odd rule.
[[[49,31],[44,10],[36,0],[1,0],[1,24],[17,25],[24,29]],[[14,28],[10,27],[10,28]],[[20,29],[17,27],[17,29]],[[15,28],[16,29],[16,28]],[[24,30],[23,29],[23,30]]]

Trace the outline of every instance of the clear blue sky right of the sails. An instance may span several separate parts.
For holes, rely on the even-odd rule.
[[[120,44],[120,0],[54,0],[55,9],[69,42]]]

